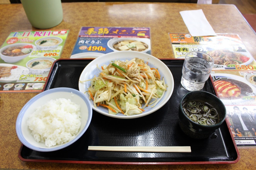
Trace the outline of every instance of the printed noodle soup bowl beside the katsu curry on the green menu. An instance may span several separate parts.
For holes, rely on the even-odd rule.
[[[51,57],[39,57],[29,60],[26,66],[30,70],[50,70],[56,59]]]

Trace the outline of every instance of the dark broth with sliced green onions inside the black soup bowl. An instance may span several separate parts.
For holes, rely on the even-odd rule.
[[[215,125],[219,123],[219,116],[215,108],[202,101],[189,101],[182,107],[188,118],[201,125]]]

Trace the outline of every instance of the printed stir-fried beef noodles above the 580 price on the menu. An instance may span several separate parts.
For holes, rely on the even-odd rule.
[[[226,49],[208,51],[214,59],[214,64],[228,65],[228,64],[242,64],[248,61],[250,58],[237,52],[232,52]]]

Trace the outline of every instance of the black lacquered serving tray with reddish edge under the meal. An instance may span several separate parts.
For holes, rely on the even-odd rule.
[[[56,60],[44,90],[56,87],[78,90],[80,74],[90,61],[92,60]],[[179,102],[189,92],[180,85],[184,60],[162,61],[171,70],[175,84],[171,98],[161,109],[137,119],[115,119],[93,111],[89,128],[69,147],[53,152],[38,152],[22,145],[19,158],[32,162],[93,164],[237,163],[240,155],[226,122],[207,139],[192,139],[180,130]],[[215,94],[210,78],[203,90]],[[88,151],[88,146],[191,146],[191,153]]]

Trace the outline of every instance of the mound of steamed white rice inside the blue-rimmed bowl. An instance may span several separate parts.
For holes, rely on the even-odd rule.
[[[61,145],[72,140],[81,125],[80,105],[70,99],[50,100],[29,116],[27,121],[31,135],[47,147]]]

